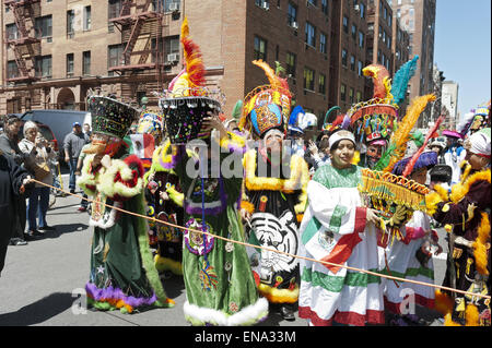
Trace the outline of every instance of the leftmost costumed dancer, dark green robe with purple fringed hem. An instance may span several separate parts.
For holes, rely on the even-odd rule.
[[[104,96],[89,96],[93,141],[86,149],[78,184],[94,200],[91,273],[85,286],[89,305],[132,313],[151,307],[173,307],[149,249],[147,220],[112,208],[145,215],[143,167],[128,155],[124,136],[137,110]]]

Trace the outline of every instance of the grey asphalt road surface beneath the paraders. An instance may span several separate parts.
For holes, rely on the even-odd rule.
[[[63,175],[65,188],[67,179]],[[186,290],[180,277],[163,283],[176,302],[172,309],[133,314],[85,311],[83,288],[89,279],[92,228],[89,215],[77,212],[79,204],[73,196],[57,197],[47,215],[48,224],[57,230],[27,245],[9,247],[0,278],[0,326],[189,326],[183,314]],[[444,233],[440,230],[443,248]],[[445,254],[434,259],[434,267],[438,285],[444,277]],[[427,325],[442,326],[436,312],[418,307],[417,313]],[[258,326],[305,326],[306,322],[295,315],[294,322],[286,322],[270,313]]]

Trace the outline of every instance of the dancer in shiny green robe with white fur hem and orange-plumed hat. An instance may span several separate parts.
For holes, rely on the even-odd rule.
[[[244,241],[237,213],[243,148],[234,141],[237,135],[227,133],[218,117],[221,94],[204,88],[201,53],[189,38],[186,19],[181,44],[185,69],[160,104],[189,228],[183,237],[185,319],[192,325],[253,325],[267,317],[268,301],[258,295],[245,247],[233,242]],[[212,130],[218,137],[212,137]],[[186,143],[198,146],[197,156],[189,155]],[[212,156],[211,147],[221,151]],[[238,165],[232,175],[224,172],[229,159]]]

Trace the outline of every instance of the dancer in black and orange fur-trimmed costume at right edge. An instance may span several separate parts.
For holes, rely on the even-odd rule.
[[[473,133],[465,142],[467,152],[461,181],[450,194],[440,185],[426,196],[433,217],[449,235],[449,254],[443,286],[490,295],[491,130]],[[490,300],[470,295],[437,291],[436,308],[446,326],[490,326]]]

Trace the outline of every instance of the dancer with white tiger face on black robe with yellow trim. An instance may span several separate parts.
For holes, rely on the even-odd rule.
[[[283,140],[290,115],[290,92],[284,81],[262,61],[270,85],[255,88],[245,98],[239,125],[250,130],[257,147],[244,156],[245,192],[242,215],[254,244],[289,254],[298,251],[298,221],[306,205],[309,180],[303,157],[288,154]],[[292,303],[298,298],[297,259],[268,250],[248,250],[258,289],[283,319],[294,320]]]

